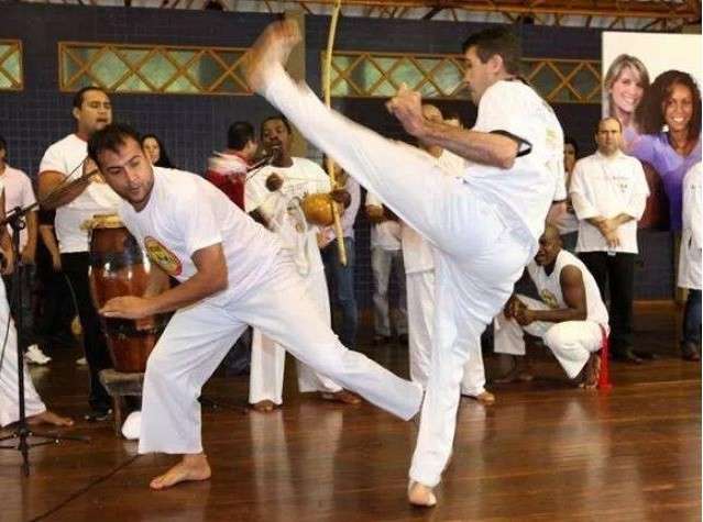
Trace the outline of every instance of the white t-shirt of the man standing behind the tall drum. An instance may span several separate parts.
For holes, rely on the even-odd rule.
[[[46,149],[40,173],[57,170],[74,180],[83,176],[87,156],[88,143],[69,134]],[[120,197],[107,184],[94,181],[70,203],[56,209],[54,230],[59,252],[88,252],[88,231],[81,229],[83,223],[96,214],[116,213],[119,204]]]

